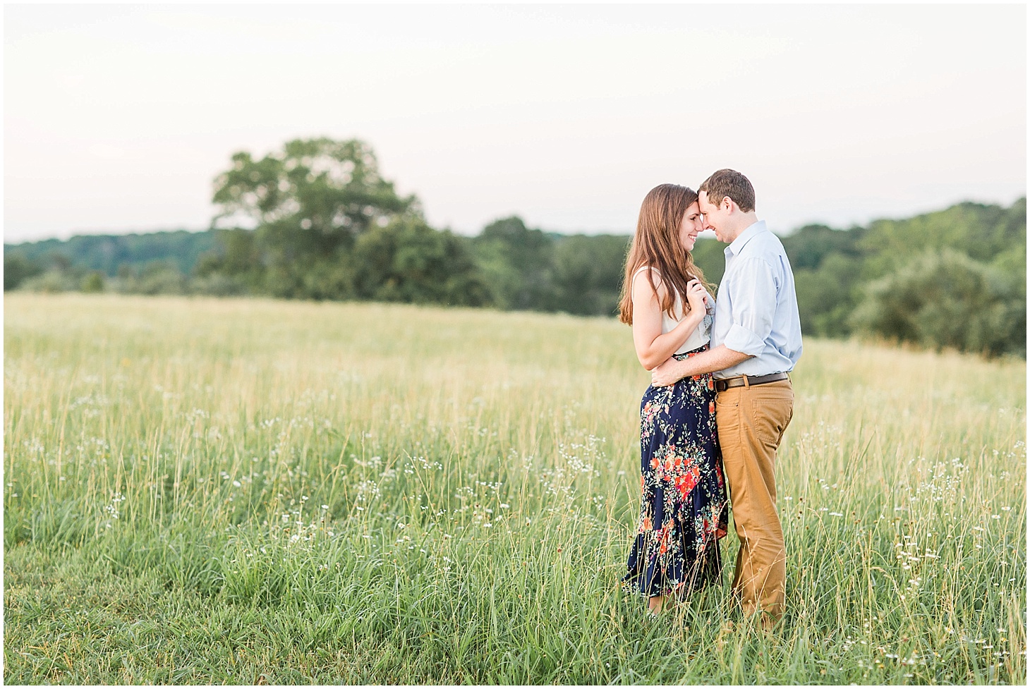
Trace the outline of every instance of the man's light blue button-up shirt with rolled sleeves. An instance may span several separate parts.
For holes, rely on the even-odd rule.
[[[712,325],[712,347],[751,354],[716,378],[792,371],[801,357],[801,319],[794,274],[780,238],[759,220],[724,250],[726,272]]]

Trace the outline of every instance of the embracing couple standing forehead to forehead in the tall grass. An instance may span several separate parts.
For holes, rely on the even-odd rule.
[[[718,303],[691,256],[703,230],[729,244]],[[719,581],[731,502],[741,544],[732,591],[745,616],[771,626],[786,575],[776,452],[793,413],[788,372],[801,326],[787,254],[758,219],[747,177],[719,170],[696,193],[651,190],[619,313],[652,382],[641,401],[642,507],[623,581],[652,613]]]

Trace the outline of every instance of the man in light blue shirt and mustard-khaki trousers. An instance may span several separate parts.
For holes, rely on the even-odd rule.
[[[651,375],[655,385],[715,374],[716,426],[741,549],[733,592],[771,626],[783,614],[786,549],[776,506],[776,451],[790,423],[787,372],[801,356],[794,276],[780,239],[755,214],[747,177],[719,170],[698,188],[705,228],[729,244],[711,348]]]

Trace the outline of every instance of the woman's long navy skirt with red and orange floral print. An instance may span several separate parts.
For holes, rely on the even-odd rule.
[[[622,578],[642,595],[684,595],[719,579],[727,501],[717,438],[711,374],[644,393],[641,516]]]

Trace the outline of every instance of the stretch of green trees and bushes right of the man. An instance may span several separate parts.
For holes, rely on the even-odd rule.
[[[847,337],[857,329],[921,346],[1025,355],[1026,199],[1008,208],[962,203],[847,232],[809,226],[783,243],[805,334]],[[973,307],[976,290],[989,306]]]

